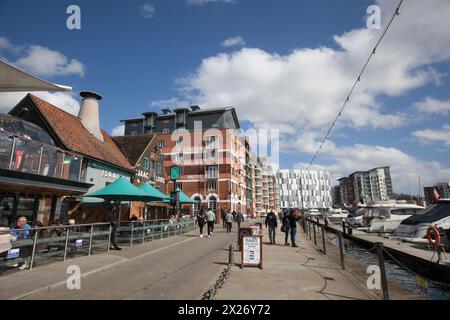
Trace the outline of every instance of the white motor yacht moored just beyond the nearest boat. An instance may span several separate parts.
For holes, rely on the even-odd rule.
[[[406,201],[390,201],[368,204],[357,211],[363,213],[358,230],[377,233],[392,233],[400,223],[422,211],[424,207]]]

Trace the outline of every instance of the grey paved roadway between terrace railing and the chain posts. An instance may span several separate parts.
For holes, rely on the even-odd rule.
[[[194,231],[5,275],[0,299],[197,300],[222,272],[227,248],[237,239],[236,227],[232,234],[221,225],[215,231],[210,239]],[[70,265],[81,269],[81,290],[67,289]]]

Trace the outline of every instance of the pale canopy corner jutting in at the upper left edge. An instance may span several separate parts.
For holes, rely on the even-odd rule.
[[[71,90],[71,87],[41,80],[0,59],[0,92]]]

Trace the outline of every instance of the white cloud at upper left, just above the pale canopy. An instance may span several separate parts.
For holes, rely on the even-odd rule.
[[[85,66],[76,59],[68,59],[64,54],[41,46],[30,46],[27,55],[15,63],[37,76],[84,76]]]

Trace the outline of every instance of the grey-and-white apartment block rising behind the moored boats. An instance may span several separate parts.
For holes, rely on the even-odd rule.
[[[345,206],[389,201],[393,194],[389,167],[357,171],[338,180],[341,204]]]

